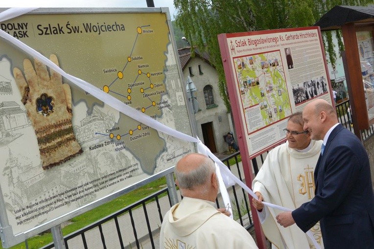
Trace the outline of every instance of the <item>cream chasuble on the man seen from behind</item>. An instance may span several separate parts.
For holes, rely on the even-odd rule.
[[[251,234],[214,205],[184,197],[171,207],[161,225],[160,248],[258,249]]]

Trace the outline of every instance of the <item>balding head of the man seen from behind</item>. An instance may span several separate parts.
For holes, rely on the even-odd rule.
[[[179,160],[174,174],[183,196],[215,200],[218,182],[214,163],[209,157],[198,153],[188,154]],[[217,186],[212,186],[215,184]],[[214,193],[215,196],[211,196]]]

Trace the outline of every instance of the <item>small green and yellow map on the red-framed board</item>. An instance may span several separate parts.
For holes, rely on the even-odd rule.
[[[279,50],[234,58],[234,65],[248,133],[291,115]]]

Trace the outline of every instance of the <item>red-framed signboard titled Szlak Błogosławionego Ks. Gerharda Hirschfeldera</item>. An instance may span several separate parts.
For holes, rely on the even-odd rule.
[[[285,139],[287,117],[316,98],[331,103],[318,27],[218,36],[235,127],[250,157]],[[237,125],[240,123],[240,125]]]

